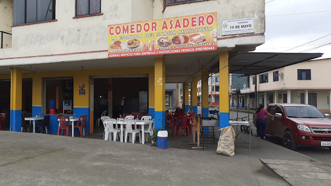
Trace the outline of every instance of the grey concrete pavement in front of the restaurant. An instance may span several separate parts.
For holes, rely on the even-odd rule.
[[[310,162],[331,172],[308,156],[254,137],[251,153],[239,143],[234,157],[211,148],[161,150],[10,131],[0,131],[0,144],[0,185],[289,185],[259,158]]]

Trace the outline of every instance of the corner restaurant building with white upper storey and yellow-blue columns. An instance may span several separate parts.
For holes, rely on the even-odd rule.
[[[149,114],[164,128],[165,84],[183,83],[185,110],[191,103],[195,111],[197,95],[191,91],[189,102],[188,84],[196,90],[216,63],[220,126],[226,126],[229,52],[264,43],[264,6],[263,0],[3,0],[0,31],[12,35],[0,49],[0,83],[10,130],[21,130],[23,112],[50,115],[56,133],[61,113],[87,115],[93,133],[105,110],[114,118]]]

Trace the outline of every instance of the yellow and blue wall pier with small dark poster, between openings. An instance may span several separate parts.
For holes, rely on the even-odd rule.
[[[76,117],[88,116],[86,129],[93,134],[93,122],[90,122],[90,77],[84,71],[73,75],[73,113]]]

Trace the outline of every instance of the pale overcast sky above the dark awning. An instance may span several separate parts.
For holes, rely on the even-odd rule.
[[[322,58],[331,58],[331,44],[310,50],[331,43],[331,35],[329,35],[331,34],[331,0],[266,0],[265,2],[266,41],[255,51],[320,52],[324,53]],[[319,39],[321,37],[324,38]],[[305,45],[300,46],[302,44]]]

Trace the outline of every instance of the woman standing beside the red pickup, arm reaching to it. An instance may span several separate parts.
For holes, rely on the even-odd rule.
[[[275,117],[274,115],[269,114],[268,111],[264,110],[264,105],[261,104],[253,118],[253,121],[257,124],[258,138],[264,140],[266,140],[266,115],[273,118]]]

